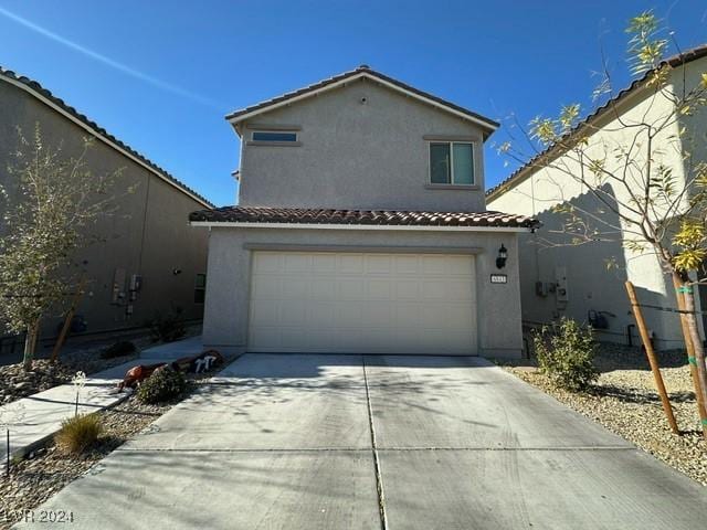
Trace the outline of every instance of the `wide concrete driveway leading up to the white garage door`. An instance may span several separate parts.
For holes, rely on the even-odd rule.
[[[116,530],[693,530],[707,489],[483,359],[247,354],[40,509]]]

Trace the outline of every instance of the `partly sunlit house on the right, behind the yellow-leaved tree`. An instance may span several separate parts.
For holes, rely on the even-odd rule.
[[[667,62],[673,66],[669,84],[679,92],[699,84],[700,74],[707,72],[707,45],[685,52]],[[680,64],[683,66],[680,66]],[[647,75],[647,74],[646,74]],[[635,81],[604,106],[590,115],[573,132],[588,137],[589,148],[597,146],[611,156],[608,163],[620,163],[614,149],[627,149],[632,124],[658,124],[674,114],[673,103],[646,85],[646,77]],[[683,85],[685,84],[685,85]],[[623,124],[623,125],[622,125]],[[629,128],[624,127],[629,126]],[[680,128],[684,131],[680,134]],[[692,153],[693,162],[707,160],[707,116],[683,116],[662,137],[661,162],[672,169],[676,189],[685,182],[684,155]],[[637,145],[635,149],[641,149]],[[654,151],[655,152],[655,151]],[[541,163],[552,168],[539,168]],[[567,163],[567,166],[566,166]],[[557,148],[550,148],[518,169],[509,178],[487,192],[489,208],[537,216],[542,230],[520,239],[520,288],[523,318],[528,325],[545,324],[560,316],[592,321],[598,337],[604,341],[637,343],[640,340],[626,296],[624,282],[630,279],[639,290],[642,303],[675,308],[673,282],[665,276],[658,261],[651,252],[635,254],[621,242],[594,242],[581,246],[568,246],[567,240],[553,234],[562,231],[564,214],[555,213],[557,204],[569,203],[610,219],[610,209],[599,209],[597,200],[568,174],[557,168],[572,167],[573,162]],[[576,166],[576,165],[574,165]],[[626,203],[627,192],[622,187],[606,190]],[[621,210],[623,214],[629,212]],[[612,215],[615,215],[612,213]],[[597,225],[598,223],[593,223]],[[630,237],[622,229],[621,237]],[[541,240],[550,240],[547,245]],[[557,243],[559,246],[555,246]],[[616,268],[608,268],[615,259]],[[699,287],[701,307],[707,309],[705,286]],[[700,301],[698,300],[698,301]],[[654,342],[661,349],[682,347],[683,335],[677,314],[646,309],[644,316],[653,331]],[[700,322],[704,328],[704,322]],[[703,329],[703,337],[704,337]]]

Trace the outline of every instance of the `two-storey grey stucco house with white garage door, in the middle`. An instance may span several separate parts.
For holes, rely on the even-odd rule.
[[[210,227],[205,344],[520,356],[517,234],[537,223],[486,211],[498,124],[368,66],[228,120],[239,205],[190,216]]]

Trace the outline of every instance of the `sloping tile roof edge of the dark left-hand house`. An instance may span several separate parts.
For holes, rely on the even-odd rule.
[[[161,179],[170,182],[171,184],[173,184],[177,189],[179,189],[183,193],[186,193],[188,195],[191,195],[192,198],[197,199],[197,201],[201,202],[204,206],[212,206],[213,205],[211,203],[211,201],[209,201],[204,197],[202,197],[199,193],[197,193],[194,190],[189,188],[187,184],[184,184],[180,180],[178,180],[175,177],[172,177],[170,173],[165,171],[162,168],[157,166],[155,162],[152,162],[151,160],[149,160],[145,156],[140,155],[138,151],[133,149],[127,144],[124,144],[123,141],[118,140],[115,136],[110,135],[106,129],[104,129],[103,127],[98,126],[95,121],[92,121],[91,119],[88,119],[88,117],[86,117],[85,115],[81,114],[74,107],[72,107],[71,105],[67,105],[63,99],[54,96],[54,94],[52,94],[50,91],[44,88],[36,81],[30,80],[29,77],[25,77],[24,75],[18,75],[13,71],[6,70],[2,66],[0,66],[0,78],[10,80],[12,82],[20,83],[24,87],[27,87],[29,89],[29,92],[35,94],[39,97],[43,97],[43,98],[49,99],[51,103],[53,103],[54,105],[60,107],[62,110],[64,110],[65,113],[70,114],[72,117],[74,117],[75,119],[77,119],[78,121],[81,121],[82,124],[87,126],[89,129],[92,129],[94,135],[96,135],[97,137],[102,137],[108,144],[113,144],[113,145],[117,146],[119,149],[123,149],[124,151],[127,151],[130,156],[135,157],[140,162],[143,162],[144,165],[148,166]]]

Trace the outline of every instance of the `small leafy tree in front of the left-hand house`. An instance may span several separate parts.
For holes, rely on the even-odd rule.
[[[92,140],[77,157],[18,130],[20,147],[8,168],[15,192],[0,188],[4,234],[0,235],[0,322],[27,333],[24,368],[31,369],[43,317],[76,288],[72,264],[78,248],[97,241],[86,229],[114,212],[108,192],[120,171],[93,174],[86,165]]]

